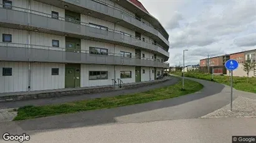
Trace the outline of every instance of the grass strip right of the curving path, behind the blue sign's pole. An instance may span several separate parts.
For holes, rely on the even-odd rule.
[[[171,74],[176,74],[181,76],[181,72],[172,72]],[[204,79],[204,80],[211,80],[211,74],[203,74],[199,72],[186,72],[186,77],[192,77],[196,79]],[[221,84],[230,85],[229,76],[217,76],[214,75],[214,81],[219,82]],[[247,77],[233,77],[233,87],[237,90],[242,90],[245,92],[253,92],[256,93],[256,78],[249,77],[249,83],[247,82]]]

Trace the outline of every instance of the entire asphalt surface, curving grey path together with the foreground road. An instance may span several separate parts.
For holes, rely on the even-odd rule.
[[[232,135],[256,135],[255,118],[201,119],[230,103],[230,87],[192,80],[204,89],[157,102],[0,123],[0,134],[27,132],[33,142],[231,142]],[[255,97],[234,90],[234,100],[238,95]]]

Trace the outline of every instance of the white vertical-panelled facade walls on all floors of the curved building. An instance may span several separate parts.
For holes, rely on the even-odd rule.
[[[9,0],[12,1],[12,9],[17,11],[25,11],[29,8],[29,0]],[[130,15],[135,16],[133,12],[126,10],[113,1],[102,0],[111,6],[118,7],[121,11],[125,11]],[[0,0],[0,4],[2,1]],[[2,7],[0,5],[0,7]],[[21,8],[17,8],[21,7]],[[31,0],[31,13],[44,15],[51,17],[52,11],[59,13],[59,19],[65,17],[65,9],[44,4]],[[84,22],[84,25],[89,23],[102,25],[112,30],[127,33],[135,37],[135,30],[122,27],[121,25],[108,22],[106,20],[90,17],[89,15],[80,14],[80,21]],[[149,24],[149,22],[147,22]],[[83,24],[83,23],[81,23]],[[3,34],[11,35],[11,42],[2,41]],[[67,36],[67,35],[66,35]],[[145,35],[141,34],[141,38],[146,41],[153,40]],[[66,47],[66,37],[64,35],[54,35],[49,33],[39,33],[27,30],[17,30],[14,28],[2,28],[0,27],[0,46],[14,46],[17,48],[41,48],[49,50],[64,50]],[[59,41],[59,47],[53,47],[52,40]],[[111,43],[104,43],[100,41],[92,41],[80,39],[81,52],[85,53],[90,50],[90,47],[104,48],[108,50],[108,53],[120,55],[120,51],[131,53],[132,57],[135,57],[135,48],[130,48],[121,45],[115,45]],[[141,50],[141,58],[155,60],[154,53]],[[156,59],[163,59],[161,56],[156,56]],[[72,64],[72,63],[69,63]],[[30,67],[29,67],[30,65]],[[65,63],[28,63],[28,62],[9,62],[0,61],[0,93],[5,92],[27,92],[29,90],[52,90],[52,89],[64,89],[65,88]],[[6,76],[2,72],[4,68],[11,68],[11,76]],[[29,70],[30,69],[30,70]],[[58,69],[58,74],[52,74],[52,69]],[[163,68],[156,68],[156,72],[164,70]],[[108,78],[100,80],[90,80],[90,71],[107,71]],[[122,79],[120,72],[131,71],[131,77]],[[154,80],[154,67],[141,67],[141,82]],[[114,66],[114,65],[99,65],[99,64],[80,64],[80,87],[92,87],[111,85],[112,79],[121,79],[123,84],[135,82],[135,66]],[[30,86],[30,89],[29,89]]]

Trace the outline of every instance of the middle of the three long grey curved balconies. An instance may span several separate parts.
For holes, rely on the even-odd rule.
[[[128,46],[130,48],[150,51],[154,54],[163,56],[166,60],[169,58],[168,51],[165,51],[159,45],[154,45],[152,41],[140,40],[110,28],[95,28],[90,24],[79,21],[75,23],[67,22],[64,17],[53,19],[52,15],[37,11],[29,11],[28,9],[20,7],[12,7],[12,9],[0,8],[0,13],[1,27],[20,28],[25,30],[37,29],[39,30],[38,32],[57,35],[69,34],[70,37]]]

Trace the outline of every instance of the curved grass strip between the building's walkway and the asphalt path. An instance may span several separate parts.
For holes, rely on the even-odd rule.
[[[148,92],[119,95],[117,97],[96,98],[92,100],[82,100],[79,102],[64,103],[59,105],[45,106],[24,106],[17,110],[14,120],[39,118],[44,116],[60,115],[65,113],[75,113],[78,111],[97,110],[103,108],[114,108],[118,106],[135,105],[139,103],[164,100],[201,90],[203,85],[192,80],[186,80],[185,89],[181,90],[181,80],[169,87],[149,90]]]

